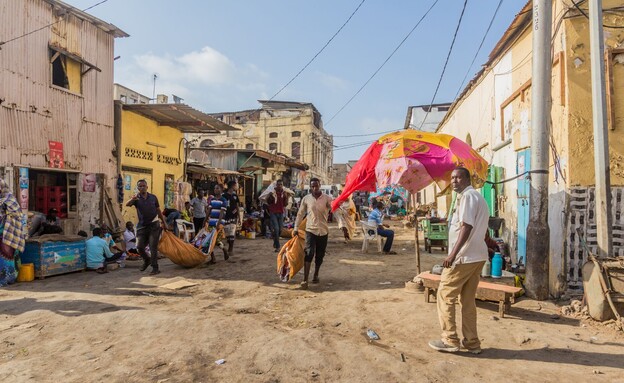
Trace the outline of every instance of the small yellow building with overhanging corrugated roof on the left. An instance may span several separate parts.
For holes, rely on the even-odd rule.
[[[233,129],[184,104],[123,104],[115,101],[115,138],[124,201],[137,192],[139,180],[158,198],[161,208],[175,208],[176,182],[184,180],[185,133]],[[136,209],[122,207],[126,221]]]

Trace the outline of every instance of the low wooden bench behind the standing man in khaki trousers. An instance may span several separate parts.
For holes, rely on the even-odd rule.
[[[425,287],[425,302],[429,303],[430,296],[435,294],[440,286],[440,275],[424,272],[420,273],[418,278],[422,280]],[[521,293],[522,289],[519,287],[484,281],[480,281],[477,287],[477,299],[498,302],[498,315],[501,318],[505,317],[505,312],[511,308],[511,304]]]

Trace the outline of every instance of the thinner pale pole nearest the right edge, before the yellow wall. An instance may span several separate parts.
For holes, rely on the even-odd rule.
[[[589,1],[589,45],[594,125],[594,169],[596,173],[596,236],[599,257],[611,254],[611,171],[605,96],[602,0]]]

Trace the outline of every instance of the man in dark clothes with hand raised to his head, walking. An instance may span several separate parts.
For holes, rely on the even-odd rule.
[[[147,192],[147,181],[140,180],[137,182],[137,188],[139,193],[132,197],[126,206],[134,206],[137,209],[139,216],[139,224],[137,225],[137,239],[139,254],[143,258],[143,266],[141,271],[145,271],[147,267],[152,265],[152,272],[150,275],[156,275],[160,273],[158,269],[158,240],[160,237],[160,230],[167,230],[167,224],[165,223],[165,217],[160,210],[160,204],[158,198],[152,193]],[[160,218],[160,222],[158,219]],[[145,247],[149,244],[150,258],[147,256]]]

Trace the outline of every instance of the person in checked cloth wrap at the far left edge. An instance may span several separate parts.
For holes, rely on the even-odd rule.
[[[15,257],[26,244],[26,215],[9,185],[0,178],[0,286],[17,279]]]

